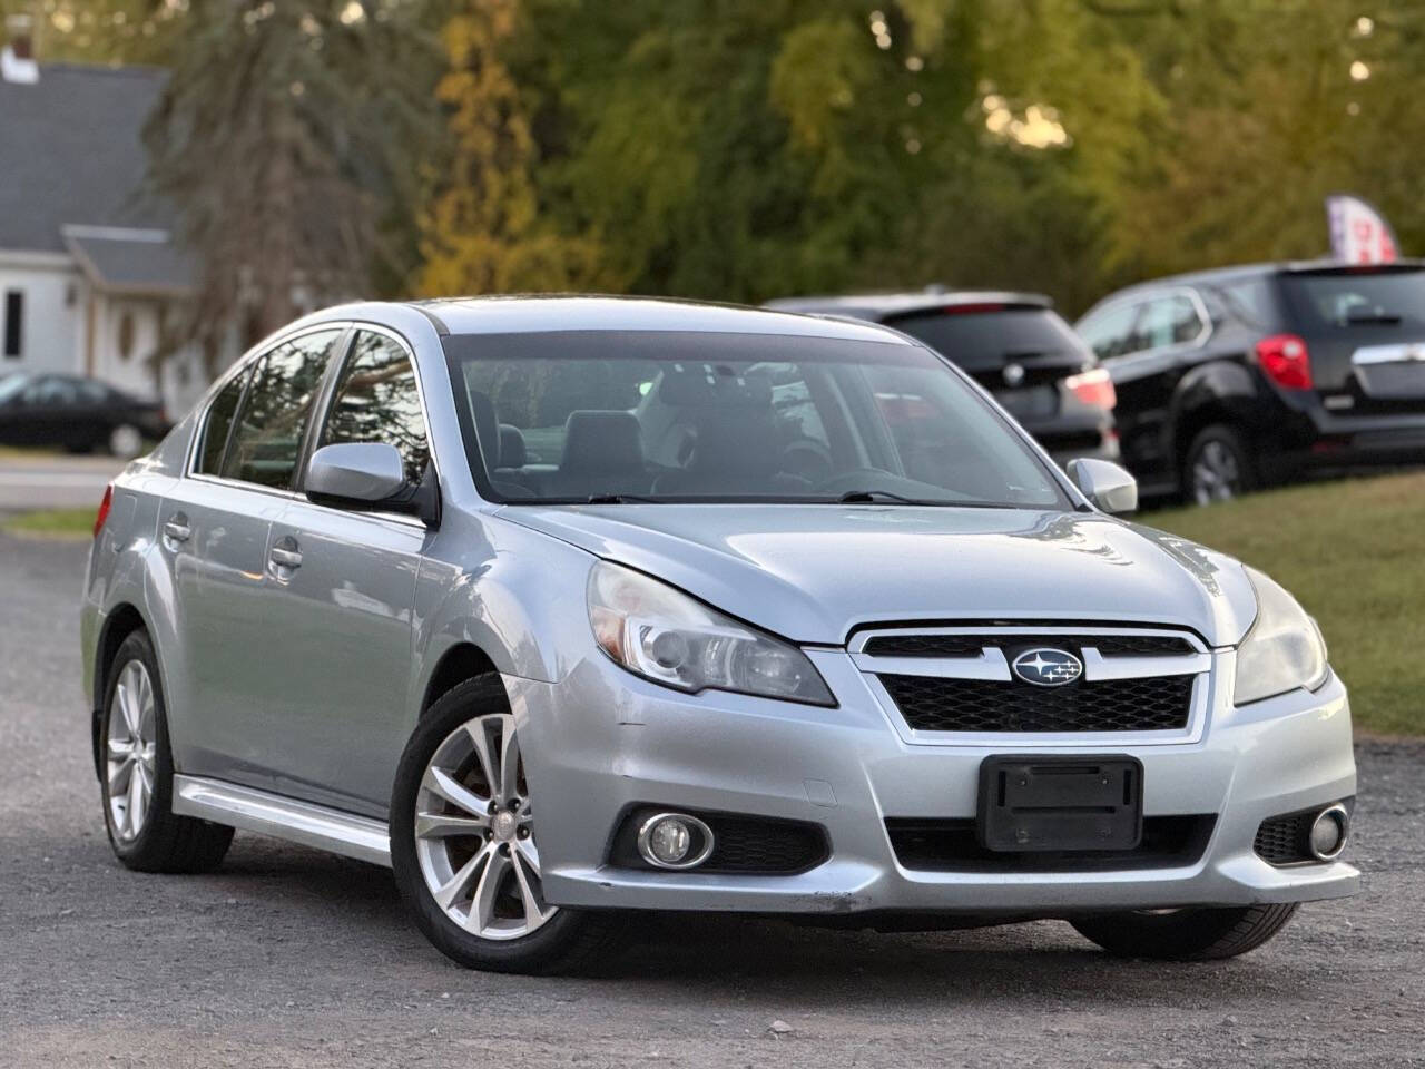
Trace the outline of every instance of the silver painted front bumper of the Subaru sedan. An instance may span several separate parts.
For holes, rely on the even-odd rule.
[[[1274,868],[1253,851],[1267,817],[1355,794],[1345,688],[1332,677],[1233,708],[1211,687],[1194,741],[1114,745],[1112,735],[1046,745],[909,741],[903,721],[841,650],[808,651],[834,710],[646,683],[600,656],[556,684],[506,677],[539,800],[544,894],[587,908],[849,914],[929,911],[1053,916],[1082,911],[1300,902],[1349,895],[1340,861]],[[1213,654],[1213,680],[1233,653]],[[982,737],[976,737],[979,743]],[[1137,737],[1141,740],[1143,737]],[[1062,737],[1060,737],[1062,740]],[[1131,754],[1143,763],[1144,817],[1216,814],[1203,855],[1176,868],[985,872],[908,869],[888,817],[973,818],[980,761],[992,753]],[[711,875],[616,868],[610,838],[647,802],[822,825],[829,859],[799,875]]]

